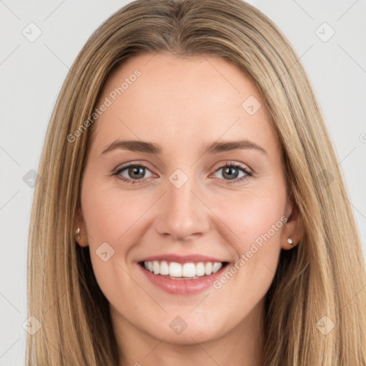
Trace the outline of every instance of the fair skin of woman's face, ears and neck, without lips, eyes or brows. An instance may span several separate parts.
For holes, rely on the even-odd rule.
[[[109,77],[99,103],[135,69],[142,75],[94,122],[76,221],[79,244],[89,245],[94,274],[109,300],[119,348],[127,365],[261,365],[264,296],[280,250],[295,247],[302,233],[269,112],[247,76],[212,56],[135,56]],[[242,108],[249,96],[262,104],[253,115]],[[101,155],[115,139],[154,142],[162,154],[116,149]],[[203,153],[212,142],[235,139],[249,139],[267,154]],[[113,175],[129,162],[148,167],[143,178],[129,169],[119,176],[144,182]],[[227,162],[252,176],[230,184]],[[188,177],[179,189],[169,181],[176,169]],[[234,178],[242,176],[239,169]],[[220,289],[171,295],[149,282],[137,264],[163,253],[206,254],[234,264],[281,217],[290,219]],[[96,254],[103,242],[114,249],[107,262]],[[177,316],[187,323],[180,334],[169,327]]]

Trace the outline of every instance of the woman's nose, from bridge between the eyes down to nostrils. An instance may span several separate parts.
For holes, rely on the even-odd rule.
[[[192,174],[193,170],[190,169],[189,172]],[[157,224],[160,234],[184,239],[207,229],[204,204],[196,197],[195,179],[189,177],[182,169],[177,169],[168,177],[167,194],[164,194]]]

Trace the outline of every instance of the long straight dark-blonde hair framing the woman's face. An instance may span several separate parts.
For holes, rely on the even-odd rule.
[[[365,259],[335,150],[296,52],[241,0],[134,1],[99,26],[76,57],[51,115],[34,192],[28,312],[41,328],[27,336],[26,365],[122,362],[89,247],[74,237],[97,122],[73,142],[67,137],[89,119],[112,70],[155,52],[234,63],[257,86],[282,144],[304,234],[282,250],[266,295],[264,365],[365,365]]]

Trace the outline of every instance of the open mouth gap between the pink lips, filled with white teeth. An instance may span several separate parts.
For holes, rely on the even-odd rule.
[[[199,280],[217,273],[229,262],[169,262],[165,260],[142,261],[139,265],[152,274],[169,280]]]

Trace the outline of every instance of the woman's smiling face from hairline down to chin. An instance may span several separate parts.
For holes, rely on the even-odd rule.
[[[298,233],[254,84],[224,59],[144,54],[102,103],[77,224],[116,327],[184,344],[257,322]]]

